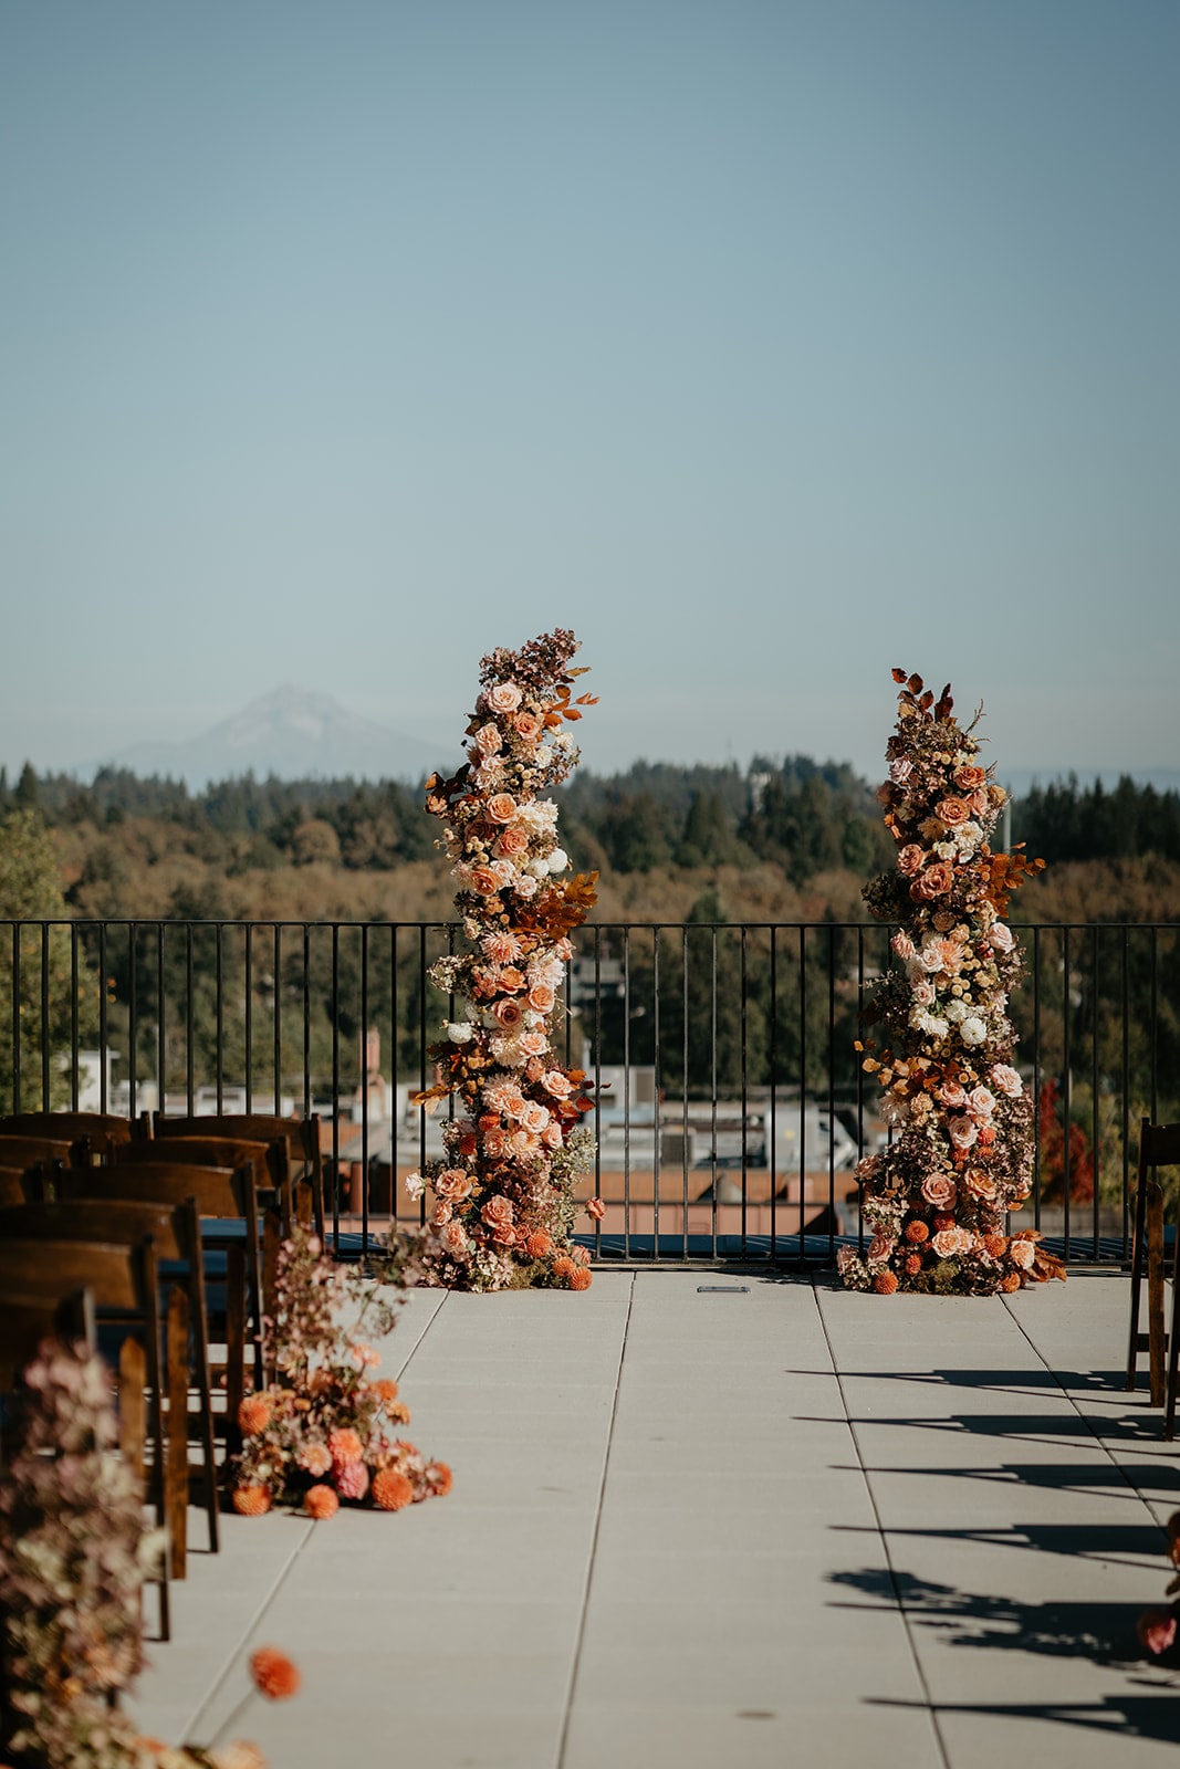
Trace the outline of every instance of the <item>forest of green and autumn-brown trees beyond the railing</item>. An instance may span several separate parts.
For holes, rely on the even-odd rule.
[[[27,1104],[46,1088],[42,1045],[85,1047],[99,1030],[122,1053],[117,1076],[166,1088],[218,1072],[258,1088],[278,1072],[295,1099],[350,1088],[366,1024],[386,1067],[396,1051],[398,1074],[416,1074],[441,1012],[423,957],[451,920],[419,798],[396,782],[246,777],[189,793],[122,770],[88,785],[0,771],[0,922],[58,923],[0,929],[0,1097],[18,1022]],[[601,1061],[656,1063],[672,1097],[823,1090],[828,1076],[856,1093],[860,980],[888,959],[860,886],[892,863],[867,782],[807,757],[745,773],[637,762],[577,775],[561,830],[575,865],[601,872],[579,950],[628,987],[586,1005],[571,1038],[593,1037]],[[1176,794],[1130,780],[1058,782],[1014,807],[1014,835],[1049,862],[1014,904],[1042,961],[1014,1014],[1044,1077],[1072,1074],[1070,1118],[1100,1134],[1104,1159],[1122,1134],[1111,1113],[1127,1106],[1134,1123],[1180,1068],[1180,941],[1159,925],[1180,922],[1178,830]],[[223,920],[271,925],[248,936]],[[624,936],[621,922],[647,927]],[[1084,927],[1051,925],[1065,922]],[[53,1070],[48,1084],[64,1099],[71,1081]]]

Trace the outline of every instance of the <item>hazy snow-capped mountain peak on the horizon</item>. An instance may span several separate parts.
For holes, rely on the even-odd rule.
[[[200,789],[253,771],[301,780],[419,780],[462,757],[437,755],[419,738],[359,718],[329,693],[287,683],[241,713],[182,741],[142,741],[103,757],[138,775],[172,775]],[[92,770],[90,770],[92,771]]]

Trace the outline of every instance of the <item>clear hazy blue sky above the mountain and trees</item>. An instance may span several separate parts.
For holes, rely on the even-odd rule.
[[[0,761],[280,681],[586,764],[1176,766],[1175,0],[9,0]]]

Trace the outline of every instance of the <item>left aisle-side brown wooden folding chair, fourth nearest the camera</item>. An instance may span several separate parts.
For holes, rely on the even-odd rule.
[[[149,1145],[150,1146],[150,1145]],[[119,1160],[85,1175],[88,1198],[126,1198],[177,1205],[191,1198],[202,1222],[205,1254],[225,1254],[225,1314],[214,1321],[225,1341],[226,1440],[235,1442],[237,1408],[246,1394],[246,1337],[253,1337],[255,1382],[264,1378],[265,1279],[258,1189],[253,1164],[203,1168],[172,1160]],[[237,1228],[235,1224],[241,1224]],[[274,1229],[272,1238],[278,1238]],[[209,1261],[205,1286],[219,1283]]]

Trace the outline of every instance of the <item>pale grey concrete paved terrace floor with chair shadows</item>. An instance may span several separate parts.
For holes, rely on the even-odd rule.
[[[1180,1456],[1122,1390],[1125,1298],[1116,1272],[1007,1302],[685,1270],[416,1293],[384,1373],[453,1493],[226,1518],[136,1712],[209,1742],[271,1643],[303,1691],[228,1728],[271,1769],[1173,1764],[1180,1673],[1134,1622]]]

